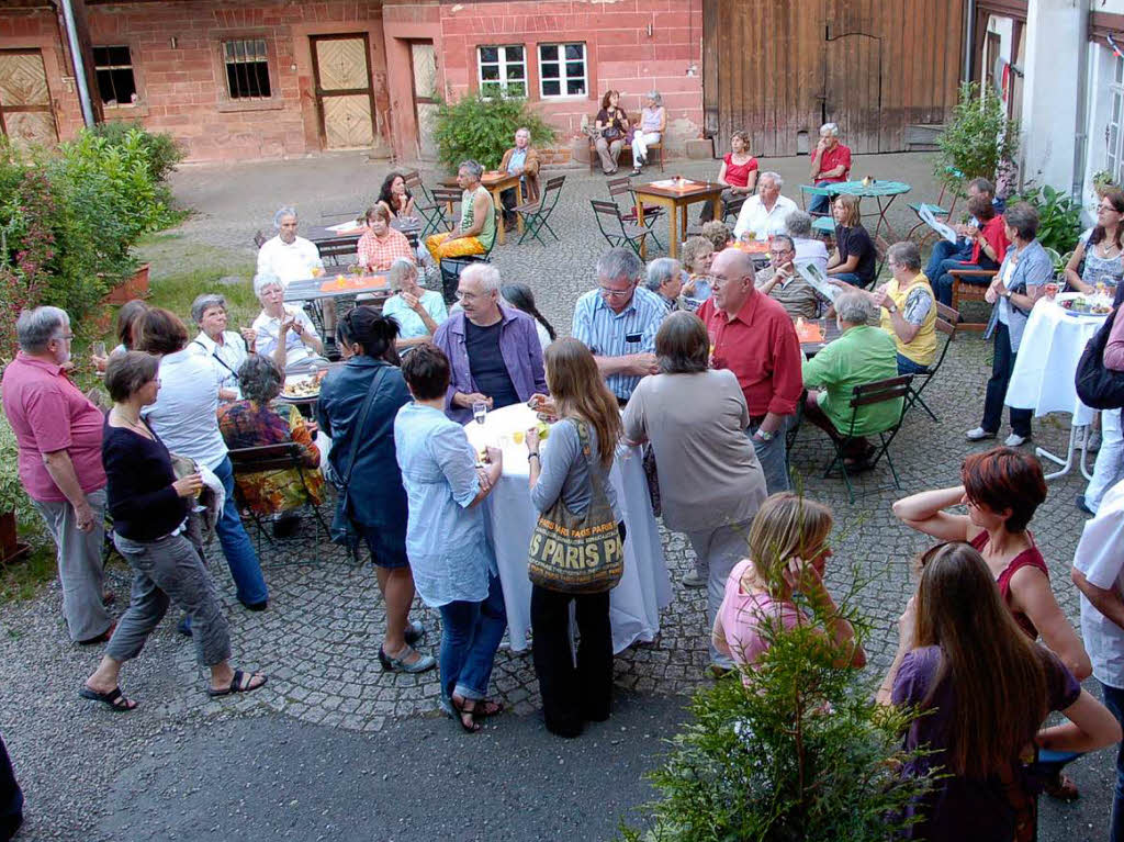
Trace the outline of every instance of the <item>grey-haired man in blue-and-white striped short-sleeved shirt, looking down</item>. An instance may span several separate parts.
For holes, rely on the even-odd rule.
[[[643,265],[635,252],[610,248],[597,261],[597,289],[578,299],[574,338],[592,352],[620,404],[645,374],[659,373],[655,332],[668,310],[659,296],[637,288]]]

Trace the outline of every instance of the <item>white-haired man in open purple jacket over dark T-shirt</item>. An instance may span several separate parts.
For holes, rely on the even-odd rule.
[[[473,404],[500,409],[546,393],[535,322],[500,305],[499,287],[499,270],[490,263],[465,269],[456,288],[462,311],[433,336],[453,368],[445,414],[461,424],[472,418]]]

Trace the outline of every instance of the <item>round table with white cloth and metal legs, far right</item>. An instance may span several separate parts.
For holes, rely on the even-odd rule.
[[[1085,435],[1093,423],[1095,410],[1077,397],[1073,379],[1086,344],[1103,324],[1104,316],[1075,315],[1053,301],[1041,299],[1031,310],[1023,331],[1005,402],[1016,409],[1033,409],[1035,417],[1048,413],[1068,413],[1073,417],[1064,459],[1044,447],[1034,451],[1062,467],[1060,471],[1048,473],[1048,480],[1069,473],[1073,467],[1078,436]],[[1093,479],[1085,467],[1084,449],[1081,453],[1081,473],[1086,479]]]

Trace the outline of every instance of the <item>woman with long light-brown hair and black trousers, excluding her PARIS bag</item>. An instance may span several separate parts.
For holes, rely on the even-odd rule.
[[[552,343],[544,362],[546,386],[559,422],[551,428],[550,447],[542,454],[538,429],[527,431],[531,503],[543,513],[561,497],[572,514],[581,515],[593,501],[596,473],[623,541],[624,523],[609,483],[609,469],[622,435],[617,399],[598,372],[593,355],[578,339],[566,337]],[[582,452],[582,432],[588,436],[589,456]],[[577,667],[570,651],[571,600],[581,635]],[[609,718],[613,701],[609,592],[573,596],[534,585],[531,625],[546,730],[559,736],[577,736],[586,722]]]

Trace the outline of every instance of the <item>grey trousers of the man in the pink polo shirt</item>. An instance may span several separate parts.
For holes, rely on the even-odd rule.
[[[85,496],[93,509],[93,528],[80,532],[74,507],[66,500],[33,500],[55,540],[63,616],[72,641],[89,641],[112,622],[101,601],[101,547],[106,541],[106,489]]]

